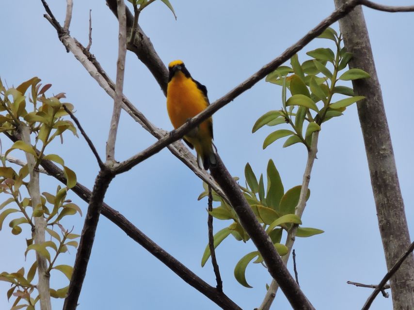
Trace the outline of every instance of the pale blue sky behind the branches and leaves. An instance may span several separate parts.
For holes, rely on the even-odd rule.
[[[95,54],[114,79],[117,57],[117,20],[104,1],[74,1],[71,35],[85,46],[88,15],[92,9]],[[213,102],[265,63],[278,56],[334,10],[331,0],[307,1],[174,1],[174,19],[168,8],[156,1],[140,16],[140,25],[151,38],[164,63],[182,59],[192,76],[205,84]],[[379,1],[391,4],[391,1]],[[394,5],[411,4],[394,1]],[[52,11],[63,23],[65,1],[50,1]],[[89,76],[72,54],[65,52],[56,31],[43,18],[40,1],[7,1],[2,4],[0,22],[3,47],[0,50],[0,76],[9,86],[38,76],[52,83],[52,93],[65,92],[75,105],[76,115],[104,156],[112,112],[111,98]],[[413,235],[413,139],[410,138],[414,114],[412,50],[414,19],[410,13],[390,14],[364,9],[377,72],[382,85],[385,110],[393,140],[398,176]],[[338,25],[334,24],[338,30]],[[331,47],[328,40],[315,40],[299,53],[316,47]],[[124,93],[161,128],[172,129],[165,97],[159,85],[137,60],[127,53]],[[255,120],[271,109],[280,109],[280,87],[259,82],[214,115],[217,149],[234,176],[242,177],[249,162],[256,174],[266,171],[270,158],[276,164],[285,189],[301,184],[306,161],[302,145],[282,148],[280,141],[262,150],[264,138],[274,129],[251,133]],[[116,159],[123,160],[153,143],[155,139],[125,112],[116,145]],[[3,149],[9,145],[1,139]],[[78,180],[92,188],[98,166],[83,139],[67,135],[63,147],[55,143],[50,153],[60,154]],[[17,153],[15,153],[17,156]],[[54,191],[57,183],[42,178],[42,191]],[[369,289],[346,284],[347,280],[375,284],[386,272],[376,210],[370,187],[364,143],[356,107],[322,126],[318,160],[311,178],[311,197],[303,215],[303,226],[325,231],[310,238],[298,238],[299,280],[304,293],[317,309],[358,309]],[[207,201],[197,201],[203,191],[201,181],[165,149],[131,171],[117,176],[105,201],[129,218],[139,229],[187,265],[202,279],[214,285],[210,263],[201,268],[201,256],[207,243]],[[86,212],[86,204],[76,195],[70,198]],[[67,227],[80,232],[83,218],[71,217]],[[215,221],[214,229],[229,225]],[[0,271],[28,268],[33,256],[24,262],[28,229],[13,236],[7,225],[0,232]],[[224,292],[243,309],[257,307],[265,294],[270,276],[260,265],[249,265],[246,278],[254,287],[247,289],[233,277],[233,268],[246,253],[254,250],[251,242],[242,244],[226,239],[217,249]],[[73,264],[75,251],[64,255],[60,263]],[[291,268],[292,262],[288,266]],[[54,288],[67,281],[56,274]],[[0,309],[8,309],[0,282]],[[167,267],[129,239],[105,217],[96,232],[88,272],[78,309],[219,309],[204,295],[188,286]],[[59,309],[62,300],[54,300]],[[391,309],[391,298],[378,296],[372,309]],[[279,292],[273,309],[290,309]]]

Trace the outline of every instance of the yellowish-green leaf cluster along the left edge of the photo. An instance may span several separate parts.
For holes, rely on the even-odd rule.
[[[50,240],[35,244],[33,237],[26,239],[25,256],[30,250],[36,251],[40,256],[46,258],[48,273],[53,269],[59,270],[70,279],[72,267],[69,265],[55,265],[55,262],[59,254],[67,251],[68,246],[78,247],[78,242],[73,239],[78,238],[79,235],[65,230],[60,223],[65,216],[76,213],[81,215],[79,206],[66,199],[68,189],[76,185],[76,174],[64,165],[64,160],[59,155],[46,155],[45,150],[56,137],[60,137],[63,142],[65,131],[71,131],[74,135],[77,135],[72,122],[64,120],[64,116],[67,115],[64,106],[69,110],[73,110],[73,106],[69,103],[61,103],[60,99],[64,98],[64,93],[47,97],[45,93],[51,87],[50,84],[41,86],[40,79],[37,77],[31,78],[16,88],[9,89],[6,89],[0,80],[0,132],[13,135],[18,133],[23,126],[27,126],[35,140],[34,145],[27,144],[22,140],[16,141],[1,158],[0,193],[9,196],[9,198],[0,204],[0,230],[6,217],[13,215],[14,218],[9,222],[13,234],[20,234],[22,227],[25,226],[33,232],[35,228],[34,218],[43,217],[47,222],[46,232],[50,235]],[[25,93],[29,89],[30,94],[26,97]],[[31,104],[27,105],[27,101]],[[28,107],[32,111],[27,111]],[[36,151],[36,149],[40,149],[40,151]],[[43,192],[40,195],[41,203],[34,205],[30,197],[24,197],[29,191],[28,165],[24,165],[19,170],[16,170],[16,166],[6,165],[8,164],[6,161],[7,155],[15,150],[33,155],[35,170],[39,168],[43,159],[62,165],[67,179],[66,186],[57,186],[54,195]],[[16,215],[20,217],[16,217]],[[55,227],[61,231],[61,234],[53,230]],[[50,249],[54,250],[54,255],[50,254]],[[14,273],[0,273],[0,280],[11,283],[7,298],[10,299],[12,295],[16,297],[12,306],[13,310],[22,308],[34,310],[34,306],[39,299],[38,295],[34,298],[31,297],[36,287],[35,284],[32,284],[36,267],[37,262],[35,261],[26,276],[24,268]],[[67,288],[50,289],[50,294],[55,298],[64,298]],[[27,303],[20,303],[23,301]]]

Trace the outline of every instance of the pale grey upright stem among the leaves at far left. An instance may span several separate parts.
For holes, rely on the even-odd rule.
[[[21,140],[26,142],[28,145],[32,145],[30,140],[30,128],[25,124],[19,125],[19,131],[21,134]],[[40,185],[39,185],[39,172],[34,168],[36,167],[36,159],[32,154],[25,152],[27,159],[27,166],[29,168],[29,194],[32,200],[33,210],[36,206],[42,205],[40,199]],[[42,217],[34,217],[34,230],[32,230],[32,238],[35,244],[42,244],[46,238],[46,219]],[[40,296],[40,308],[42,310],[52,310],[50,302],[50,275],[46,272],[48,270],[47,260],[36,251],[37,261],[37,274],[38,282],[36,285],[37,291]]]

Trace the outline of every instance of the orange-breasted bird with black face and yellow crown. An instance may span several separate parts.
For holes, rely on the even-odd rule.
[[[191,77],[184,62],[175,60],[168,65],[167,111],[177,129],[187,120],[209,106],[207,88]],[[213,120],[209,117],[183,137],[184,142],[197,152],[198,167],[208,170],[217,164],[213,144]]]

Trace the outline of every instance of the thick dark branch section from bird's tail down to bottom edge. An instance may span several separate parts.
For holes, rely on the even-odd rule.
[[[293,309],[314,310],[314,307],[303,294],[295,279],[292,278],[286,265],[274,248],[270,236],[258,222],[246,198],[240,191],[236,180],[230,175],[217,155],[217,165],[210,167],[211,175],[220,185],[236,211],[240,223],[249,234],[256,248],[263,257],[268,271],[276,279]]]

